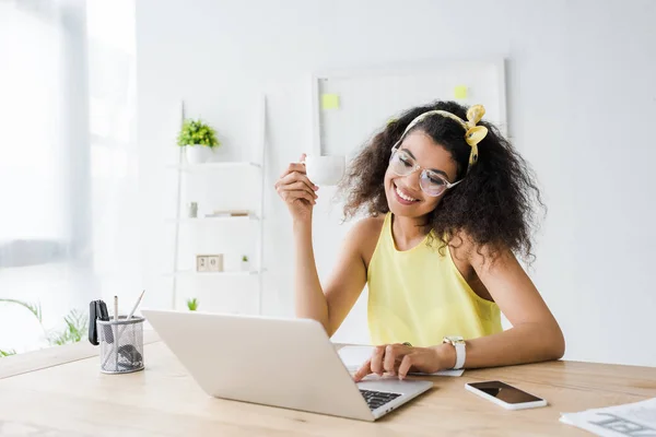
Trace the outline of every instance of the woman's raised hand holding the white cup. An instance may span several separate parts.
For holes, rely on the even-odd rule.
[[[294,222],[312,220],[312,210],[317,203],[316,190],[319,189],[305,175],[305,154],[301,163],[291,163],[276,182],[276,191],[288,205]]]

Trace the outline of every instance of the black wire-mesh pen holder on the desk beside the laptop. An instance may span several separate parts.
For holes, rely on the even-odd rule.
[[[143,370],[143,317],[96,320],[101,344],[101,371],[129,374]]]

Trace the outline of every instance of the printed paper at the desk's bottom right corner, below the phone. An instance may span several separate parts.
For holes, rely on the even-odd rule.
[[[656,398],[606,409],[565,413],[560,421],[604,437],[654,437]]]

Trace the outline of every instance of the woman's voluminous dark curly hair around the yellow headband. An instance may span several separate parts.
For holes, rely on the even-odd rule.
[[[467,119],[465,106],[455,102],[434,102],[409,109],[390,121],[363,146],[340,184],[339,192],[345,194],[347,200],[347,218],[360,212],[377,216],[389,211],[384,179],[391,147],[410,121],[434,109]],[[478,163],[467,175],[471,147],[465,142],[465,131],[457,121],[432,116],[411,130],[423,131],[449,152],[457,164],[456,180],[464,178],[456,188],[447,190],[437,208],[429,214],[425,231],[434,231],[441,250],[459,232],[465,232],[479,250],[485,248],[487,256],[494,258],[507,248],[524,259],[532,259],[536,206],[544,206],[532,170],[496,127],[487,121],[478,125],[488,128],[488,135],[478,144]]]

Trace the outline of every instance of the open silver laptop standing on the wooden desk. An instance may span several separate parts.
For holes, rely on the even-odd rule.
[[[370,376],[355,383],[324,327],[201,311],[143,309],[209,395],[373,422],[433,387]]]

